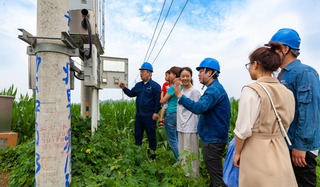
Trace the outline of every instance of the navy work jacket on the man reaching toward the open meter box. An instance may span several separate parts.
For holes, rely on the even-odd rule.
[[[137,116],[152,116],[159,113],[161,109],[161,87],[152,79],[146,84],[143,81],[136,83],[131,90],[124,88],[123,92],[129,97],[136,97],[135,108]]]

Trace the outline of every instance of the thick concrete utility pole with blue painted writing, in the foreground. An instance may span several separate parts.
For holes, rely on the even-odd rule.
[[[61,37],[68,31],[69,0],[37,0],[36,35]],[[61,40],[36,39],[64,45]],[[36,53],[35,186],[67,187],[71,182],[70,60],[63,53]]]

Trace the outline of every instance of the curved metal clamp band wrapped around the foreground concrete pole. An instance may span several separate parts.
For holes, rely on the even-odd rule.
[[[26,54],[35,55],[40,51],[52,51],[59,52],[69,56],[79,56],[78,48],[69,48],[64,45],[56,44],[56,43],[37,43],[35,46],[27,46]]]

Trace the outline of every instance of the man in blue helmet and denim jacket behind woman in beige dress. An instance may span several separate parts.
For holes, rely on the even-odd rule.
[[[299,34],[290,28],[278,30],[270,41],[281,42],[282,58],[278,80],[291,90],[295,100],[294,119],[287,135],[291,163],[299,187],[316,187],[315,157],[320,148],[320,80],[317,72],[297,59]],[[268,44],[265,44],[268,46]]]

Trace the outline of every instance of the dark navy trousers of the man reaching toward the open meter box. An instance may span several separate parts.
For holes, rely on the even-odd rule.
[[[156,149],[156,121],[152,120],[152,116],[137,116],[135,115],[134,123],[134,138],[135,145],[141,146],[143,133],[145,133],[149,140],[149,149],[155,151]],[[150,154],[150,150],[147,151]],[[151,159],[155,158],[155,154],[151,155]]]

